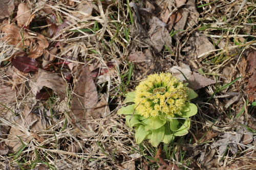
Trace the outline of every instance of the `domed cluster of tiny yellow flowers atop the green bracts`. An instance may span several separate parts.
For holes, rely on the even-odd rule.
[[[145,118],[180,115],[187,102],[186,87],[170,73],[153,74],[136,87],[134,102]]]

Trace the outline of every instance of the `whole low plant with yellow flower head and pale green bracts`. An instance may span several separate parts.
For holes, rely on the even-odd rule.
[[[197,93],[186,87],[170,73],[149,75],[126,94],[124,103],[135,104],[120,108],[126,125],[135,129],[139,144],[149,139],[153,147],[160,142],[170,143],[175,136],[183,136],[190,128],[190,118],[197,113],[197,106],[189,103]]]

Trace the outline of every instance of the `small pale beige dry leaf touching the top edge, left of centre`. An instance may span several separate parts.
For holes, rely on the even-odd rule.
[[[90,2],[82,1],[75,11],[78,11],[73,13],[76,17],[89,17],[92,14],[93,8]]]

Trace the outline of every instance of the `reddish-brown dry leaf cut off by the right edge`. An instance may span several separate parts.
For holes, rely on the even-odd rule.
[[[248,72],[252,76],[249,78],[247,85],[248,99],[250,102],[256,99],[256,50],[252,49],[247,57]]]

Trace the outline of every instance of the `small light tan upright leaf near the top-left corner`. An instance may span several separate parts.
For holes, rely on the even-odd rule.
[[[18,5],[18,11],[17,11],[17,24],[19,27],[28,26],[31,20],[33,19],[33,16],[31,16],[31,10],[29,9],[28,5],[26,3],[21,3]]]

